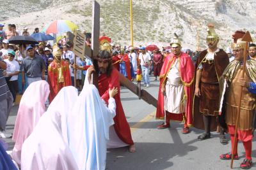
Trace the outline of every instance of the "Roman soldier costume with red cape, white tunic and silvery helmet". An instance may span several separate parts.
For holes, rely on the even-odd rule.
[[[172,39],[173,48],[181,48],[177,36]],[[165,122],[158,129],[170,127],[170,120],[184,120],[182,133],[189,132],[192,125],[192,99],[195,66],[188,54],[180,52],[175,55],[170,53],[163,63],[160,73],[160,86],[157,101],[156,118],[165,118]],[[165,86],[165,93],[161,91]]]

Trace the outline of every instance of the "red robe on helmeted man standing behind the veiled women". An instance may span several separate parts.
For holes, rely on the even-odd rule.
[[[59,83],[58,76],[59,70],[58,68],[61,67],[61,71],[63,74],[64,81]],[[63,60],[60,62],[60,66],[54,60],[48,67],[48,83],[50,85],[50,94],[49,94],[49,101],[51,102],[54,97],[58,94],[62,87],[72,85],[70,71],[69,71],[69,64]]]

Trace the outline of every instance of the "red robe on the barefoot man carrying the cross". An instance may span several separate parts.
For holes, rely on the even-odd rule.
[[[124,143],[133,145],[130,126],[125,118],[120,98],[119,72],[115,68],[113,68],[111,76],[107,77],[106,74],[101,74],[99,76],[99,94],[107,104],[109,99],[108,90],[109,88],[113,89],[113,87],[118,88],[118,94],[114,97],[116,102],[116,116],[114,118],[116,134],[122,141],[124,141]]]

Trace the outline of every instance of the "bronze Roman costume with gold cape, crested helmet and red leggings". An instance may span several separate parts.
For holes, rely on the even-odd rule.
[[[234,43],[232,44],[233,50],[247,50],[246,41],[241,41],[245,32],[236,31],[233,35]],[[239,122],[237,125],[237,138],[243,141],[246,159],[241,163],[240,167],[243,169],[249,169],[252,167],[252,129],[253,129],[253,117],[255,115],[255,83],[256,83],[256,60],[249,59],[246,61],[244,79],[248,83],[248,87],[244,87],[242,90],[241,107],[240,92],[241,86],[238,84],[239,79],[243,78],[243,62],[241,60],[233,60],[228,64],[223,75],[220,78],[220,118],[225,118],[223,127],[227,127],[228,134],[230,134],[230,140],[232,143],[232,151],[234,159],[238,159],[237,155],[237,143],[234,141],[237,112],[240,110]],[[235,149],[233,147],[235,145]],[[225,153],[220,155],[220,159],[231,159],[231,153]]]

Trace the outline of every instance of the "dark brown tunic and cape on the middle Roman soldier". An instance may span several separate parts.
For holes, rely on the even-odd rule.
[[[229,63],[228,55],[220,49],[214,55],[214,60],[204,62],[207,50],[202,51],[196,62],[196,68],[203,66],[200,80],[201,96],[194,96],[193,101],[193,126],[204,130],[202,115],[217,116],[219,110],[219,78]],[[203,113],[203,114],[202,114]],[[216,117],[211,118],[211,131],[216,131]]]

